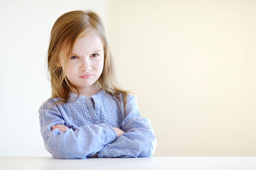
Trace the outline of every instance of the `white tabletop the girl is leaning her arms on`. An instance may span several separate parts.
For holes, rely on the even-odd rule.
[[[256,170],[256,157],[0,157],[0,170]]]

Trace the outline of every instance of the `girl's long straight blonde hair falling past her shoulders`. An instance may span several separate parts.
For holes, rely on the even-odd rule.
[[[76,40],[91,33],[96,33],[99,36],[104,49],[103,71],[96,83],[100,89],[104,89],[109,94],[116,96],[119,104],[120,96],[122,96],[123,107],[125,108],[128,94],[133,92],[121,89],[117,83],[113,56],[108,45],[103,22],[100,15],[92,10],[74,10],[64,13],[56,20],[51,29],[47,52],[48,76],[50,76],[52,89],[50,99],[59,97],[61,100],[56,101],[54,104],[67,103],[70,99],[69,92],[71,91],[78,94],[75,100],[78,99],[79,91],[77,87],[65,75]],[[59,64],[61,53],[64,56],[64,68]]]

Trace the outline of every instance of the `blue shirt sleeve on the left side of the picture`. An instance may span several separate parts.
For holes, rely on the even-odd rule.
[[[58,106],[50,107],[52,102],[41,106],[39,122],[44,145],[54,158],[59,159],[85,159],[102,150],[104,145],[116,139],[115,130],[108,124],[84,125],[77,129],[51,129],[55,124],[65,125]]]

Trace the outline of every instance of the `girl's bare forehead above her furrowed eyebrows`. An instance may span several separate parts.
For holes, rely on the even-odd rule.
[[[95,50],[103,51],[103,44],[100,37],[92,33],[82,38],[77,38],[72,53],[89,55]]]

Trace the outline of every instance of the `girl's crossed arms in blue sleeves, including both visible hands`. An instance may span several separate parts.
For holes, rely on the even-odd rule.
[[[54,158],[149,157],[154,154],[157,141],[151,121],[141,117],[137,99],[132,95],[126,103],[127,116],[121,129],[108,124],[69,129],[58,107],[47,105],[38,112],[44,145]]]

